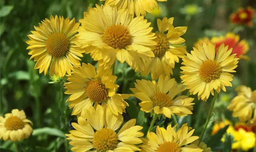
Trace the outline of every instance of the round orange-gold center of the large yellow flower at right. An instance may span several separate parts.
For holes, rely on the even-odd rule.
[[[199,75],[206,83],[218,79],[221,71],[221,66],[215,60],[205,60],[199,67]]]

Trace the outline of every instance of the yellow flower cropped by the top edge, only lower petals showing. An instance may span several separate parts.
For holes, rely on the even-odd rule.
[[[151,13],[152,9],[158,8],[157,1],[167,0],[106,0],[105,4],[116,5],[118,9],[128,9],[130,14],[135,12],[136,16],[146,16],[146,12]]]

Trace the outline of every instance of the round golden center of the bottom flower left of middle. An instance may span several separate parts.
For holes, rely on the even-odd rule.
[[[116,132],[109,128],[102,128],[98,130],[93,138],[92,144],[97,151],[113,150],[117,144]]]

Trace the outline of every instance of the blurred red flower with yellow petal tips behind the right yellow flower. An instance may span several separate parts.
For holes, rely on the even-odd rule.
[[[212,37],[211,41],[212,43],[215,43],[216,51],[219,46],[224,43],[225,46],[228,46],[228,49],[233,48],[232,54],[236,54],[235,57],[247,60],[249,57],[244,54],[248,52],[249,45],[245,40],[239,41],[239,39],[239,35],[236,35],[235,33],[227,33],[225,37]]]

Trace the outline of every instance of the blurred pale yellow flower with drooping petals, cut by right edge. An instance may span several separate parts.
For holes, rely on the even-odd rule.
[[[240,85],[235,91],[237,96],[231,100],[227,108],[233,111],[233,117],[238,117],[240,122],[249,120],[251,123],[256,123],[256,90],[251,91],[251,88]],[[252,118],[253,113],[254,118]]]

